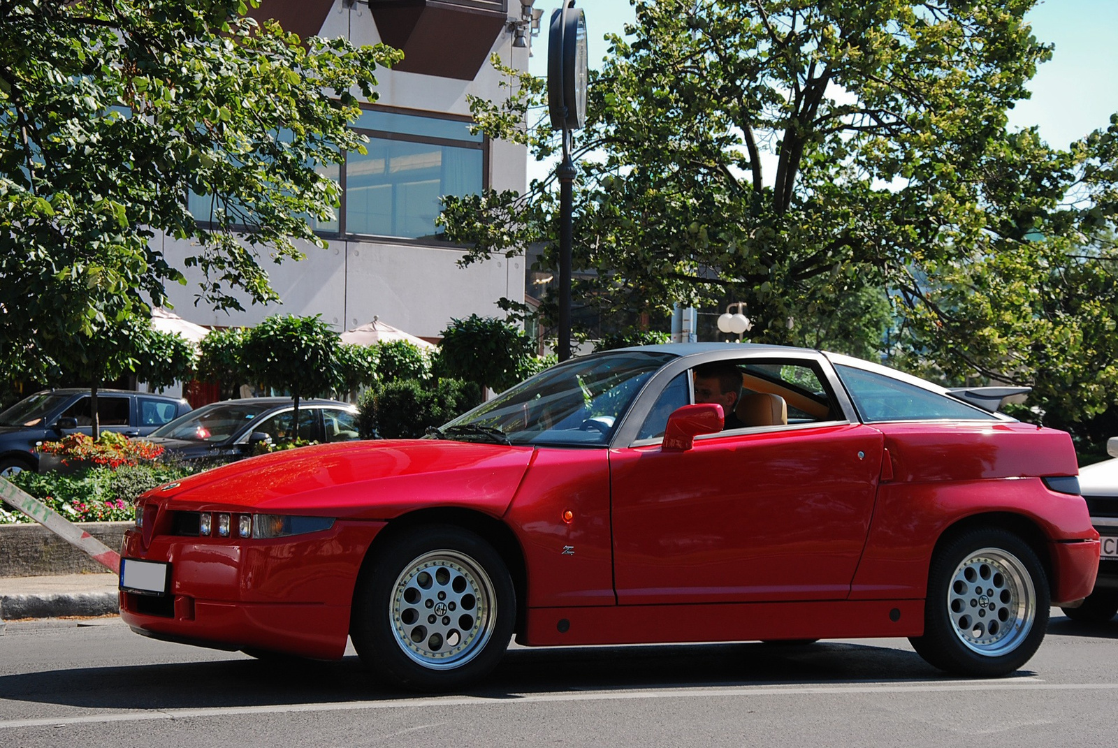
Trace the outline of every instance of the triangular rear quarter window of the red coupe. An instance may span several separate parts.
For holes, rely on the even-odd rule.
[[[873,371],[836,364],[862,420],[996,420],[985,410],[970,407],[921,387]]]

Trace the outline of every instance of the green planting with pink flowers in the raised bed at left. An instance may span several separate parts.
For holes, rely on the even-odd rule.
[[[133,502],[144,491],[190,474],[181,465],[86,467],[64,475],[23,471],[8,480],[72,522],[113,522],[133,518]],[[31,523],[18,511],[0,509],[0,524]]]

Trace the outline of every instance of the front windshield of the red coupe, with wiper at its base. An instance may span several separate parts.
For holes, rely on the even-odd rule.
[[[506,444],[609,442],[633,398],[672,353],[617,351],[548,369],[484,403],[433,436]]]

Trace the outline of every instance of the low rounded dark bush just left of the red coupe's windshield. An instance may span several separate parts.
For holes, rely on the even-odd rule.
[[[369,390],[358,405],[362,438],[418,438],[481,404],[481,388],[461,379],[424,385],[415,379],[387,382]]]

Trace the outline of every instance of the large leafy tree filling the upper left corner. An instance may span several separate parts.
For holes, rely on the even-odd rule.
[[[363,152],[352,92],[373,100],[398,54],[300,39],[249,4],[0,3],[0,343],[32,368],[139,350],[119,348],[130,320],[186,282],[155,236],[193,243],[216,309],[275,300],[265,263],[324,246],[307,221],[338,186],[315,168]]]

